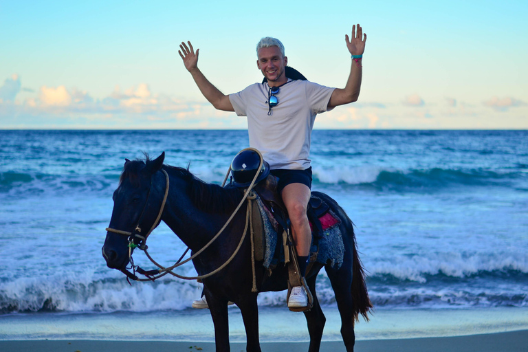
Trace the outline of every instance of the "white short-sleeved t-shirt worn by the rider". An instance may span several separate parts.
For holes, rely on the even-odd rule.
[[[288,80],[279,87],[278,104],[267,115],[270,86],[255,83],[229,99],[239,116],[248,116],[250,146],[263,154],[272,169],[310,167],[311,130],[318,113],[327,111],[333,89],[307,80]]]

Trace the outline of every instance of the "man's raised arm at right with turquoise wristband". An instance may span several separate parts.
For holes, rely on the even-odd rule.
[[[348,34],[344,36],[347,42],[347,48],[351,55],[363,55],[365,51],[366,34],[358,24],[358,33],[356,35],[355,25],[352,26],[352,38],[349,40]],[[338,105],[355,102],[360,96],[361,76],[362,76],[362,58],[351,58],[352,66],[350,68],[349,79],[344,89],[336,88],[333,90],[328,102],[328,108],[337,107]]]

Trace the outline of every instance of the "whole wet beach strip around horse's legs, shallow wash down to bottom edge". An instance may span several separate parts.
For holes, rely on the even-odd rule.
[[[338,311],[325,307],[320,351],[344,351]],[[355,351],[527,351],[525,309],[380,310],[356,325]],[[304,317],[285,309],[262,309],[262,351],[307,351]],[[214,351],[208,311],[130,314],[23,314],[0,318],[3,352]],[[245,351],[239,309],[230,309],[231,351]]]

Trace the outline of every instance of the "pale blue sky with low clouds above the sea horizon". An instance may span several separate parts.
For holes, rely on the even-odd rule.
[[[344,35],[367,34],[358,102],[316,129],[528,129],[528,1],[0,0],[0,129],[246,129],[224,94],[262,80],[274,36],[309,80],[344,87]]]

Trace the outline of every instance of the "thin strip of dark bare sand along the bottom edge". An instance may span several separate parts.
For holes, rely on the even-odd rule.
[[[398,340],[357,341],[355,351],[369,352],[525,352],[528,346],[528,330],[506,333],[488,333],[472,336],[444,338],[413,338]],[[307,342],[264,342],[263,352],[307,351]],[[0,341],[3,352],[214,352],[212,342],[159,342],[159,341],[91,341],[91,340],[35,340]],[[231,344],[231,351],[245,351],[245,343]],[[344,351],[342,342],[323,342],[321,352]]]

